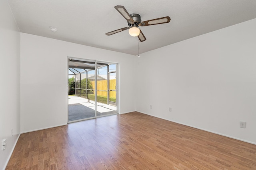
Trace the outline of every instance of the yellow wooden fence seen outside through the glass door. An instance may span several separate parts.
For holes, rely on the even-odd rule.
[[[95,81],[92,81],[93,89],[95,89]],[[109,80],[109,89],[115,90],[116,89],[116,79]],[[97,81],[97,90],[108,90],[108,80],[98,80]],[[108,96],[108,92],[97,92],[98,96]],[[116,98],[116,92],[110,91],[109,92],[110,98]]]

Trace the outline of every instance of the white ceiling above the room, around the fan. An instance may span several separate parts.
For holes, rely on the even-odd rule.
[[[256,18],[256,0],[7,0],[20,32],[127,54],[138,54],[138,38],[114,8],[122,5],[142,21],[170,16],[167,24],[139,27],[140,53]],[[58,32],[51,32],[55,27]]]

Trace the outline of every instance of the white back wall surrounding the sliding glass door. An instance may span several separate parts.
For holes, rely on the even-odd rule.
[[[21,33],[21,132],[67,123],[68,56],[118,62],[120,113],[135,111],[136,56]]]

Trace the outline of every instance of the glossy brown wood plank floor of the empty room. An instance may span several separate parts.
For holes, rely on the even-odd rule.
[[[21,134],[6,170],[256,170],[256,145],[132,112]]]

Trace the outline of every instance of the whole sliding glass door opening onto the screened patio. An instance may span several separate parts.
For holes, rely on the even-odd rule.
[[[117,64],[68,58],[68,122],[117,114]]]

